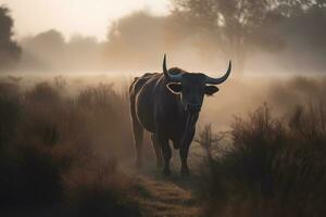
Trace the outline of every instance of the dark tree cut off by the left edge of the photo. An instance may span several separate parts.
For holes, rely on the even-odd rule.
[[[13,66],[21,58],[22,50],[12,39],[13,24],[10,10],[0,7],[0,68]]]

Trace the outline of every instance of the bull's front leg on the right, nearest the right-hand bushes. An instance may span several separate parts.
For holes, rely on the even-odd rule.
[[[181,158],[181,176],[190,175],[187,158],[188,158],[188,152],[189,152],[189,148],[190,148],[191,141],[193,139],[193,136],[195,136],[195,129],[190,130],[189,133],[185,135],[185,138],[183,139],[183,142],[180,145],[179,155]]]

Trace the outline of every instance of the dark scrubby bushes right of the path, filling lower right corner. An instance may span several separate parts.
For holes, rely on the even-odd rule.
[[[236,117],[231,146],[205,165],[204,216],[325,216],[325,114],[300,107],[279,119],[264,105]]]

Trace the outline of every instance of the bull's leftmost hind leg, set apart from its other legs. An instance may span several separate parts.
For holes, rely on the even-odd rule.
[[[137,118],[133,117],[133,131],[134,131],[134,142],[136,149],[136,166],[138,168],[142,165],[142,138],[143,138],[143,128],[137,120]]]

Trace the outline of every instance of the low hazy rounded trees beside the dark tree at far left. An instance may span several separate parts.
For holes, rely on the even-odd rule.
[[[74,35],[65,40],[62,33],[50,29],[23,38],[22,68],[28,71],[92,71],[101,68],[102,43],[93,37]]]

